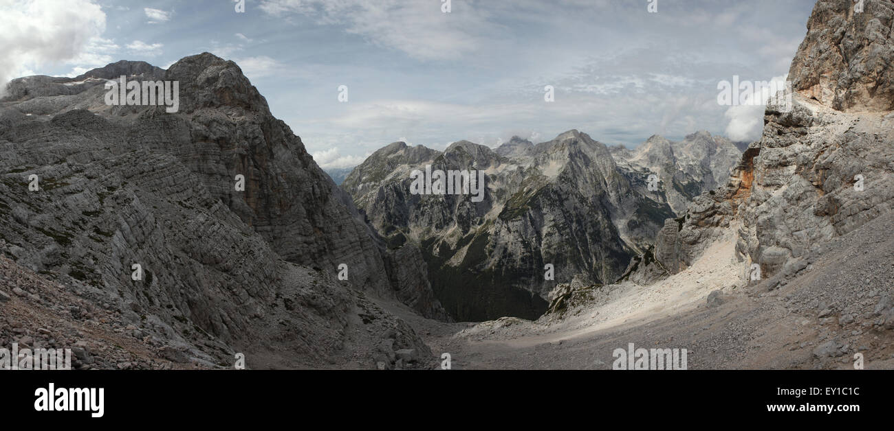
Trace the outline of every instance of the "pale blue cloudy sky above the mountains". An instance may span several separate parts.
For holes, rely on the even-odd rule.
[[[784,80],[814,5],[447,1],[0,0],[0,81],[210,52],[325,169],[395,141],[493,147],[571,128],[631,148],[697,130],[746,141],[763,107],[719,104],[719,83]]]

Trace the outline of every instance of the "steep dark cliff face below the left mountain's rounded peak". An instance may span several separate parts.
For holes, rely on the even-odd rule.
[[[174,154],[212,198],[287,261],[326,270],[344,263],[354,286],[377,294],[392,290],[382,254],[350,199],[270,114],[235,63],[210,54],[187,57],[165,79],[181,82],[179,115],[139,113],[130,142]],[[244,192],[233,186],[236,175],[246,178]]]

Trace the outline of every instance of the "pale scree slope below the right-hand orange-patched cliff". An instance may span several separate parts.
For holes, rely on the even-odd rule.
[[[894,369],[894,212],[805,256],[788,280],[750,286],[732,238],[652,286],[621,284],[564,319],[445,324],[401,311],[452,369],[611,369],[615,349],[687,349],[688,369]],[[779,287],[768,290],[780,281]],[[708,294],[722,303],[709,307]],[[885,317],[888,316],[886,321]]]

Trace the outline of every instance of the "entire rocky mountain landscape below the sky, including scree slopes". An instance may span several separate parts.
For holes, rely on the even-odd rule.
[[[336,186],[234,62],[0,99],[0,346],[76,369],[894,367],[894,4],[819,0],[746,146],[384,146]],[[105,104],[177,81],[178,112]],[[419,194],[429,171],[481,195]],[[426,190],[432,190],[426,185]]]

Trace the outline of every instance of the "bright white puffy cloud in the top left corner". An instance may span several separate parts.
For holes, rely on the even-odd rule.
[[[105,12],[92,0],[7,0],[0,3],[0,29],[0,93],[32,69],[105,60],[90,51],[105,41],[99,38]]]

